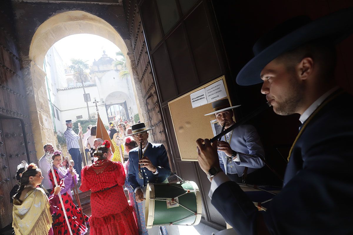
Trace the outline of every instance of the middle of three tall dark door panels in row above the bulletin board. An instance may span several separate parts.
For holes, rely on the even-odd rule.
[[[199,83],[193,70],[194,63],[190,58],[185,33],[183,24],[180,24],[166,40],[170,63],[179,93],[184,93]]]

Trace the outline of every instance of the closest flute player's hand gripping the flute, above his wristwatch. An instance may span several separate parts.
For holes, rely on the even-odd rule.
[[[205,143],[203,145],[202,143]],[[220,168],[220,161],[217,153],[217,141],[214,141],[211,145],[209,139],[197,139],[197,160],[200,164],[201,169],[208,174],[208,171],[214,166]]]

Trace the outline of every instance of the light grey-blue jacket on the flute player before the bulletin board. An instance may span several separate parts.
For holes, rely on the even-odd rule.
[[[221,140],[226,141],[224,136]],[[233,160],[232,163],[227,162],[227,155],[224,152],[218,151],[220,166],[226,174],[238,173],[238,176],[242,176],[245,167],[249,168],[247,170],[247,173],[249,174],[265,165],[259,158],[259,156],[264,158],[265,152],[262,147],[260,136],[257,134],[254,126],[240,125],[235,128],[233,130],[230,146],[232,150],[238,152],[237,158]],[[229,169],[232,169],[233,172],[229,172]]]

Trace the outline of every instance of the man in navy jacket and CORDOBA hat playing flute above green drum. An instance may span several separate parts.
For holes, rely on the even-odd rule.
[[[129,174],[127,181],[135,192],[137,202],[145,207],[146,186],[148,183],[168,183],[170,174],[169,160],[164,145],[148,142],[148,130],[144,123],[132,125],[132,137],[139,147],[129,152]],[[142,149],[141,149],[142,146]],[[142,158],[141,158],[142,157]],[[145,210],[143,210],[145,213]],[[148,230],[157,234],[159,228]]]

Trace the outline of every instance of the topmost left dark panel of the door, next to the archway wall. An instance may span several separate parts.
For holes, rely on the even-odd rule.
[[[154,1],[143,1],[140,9],[145,35],[149,42],[150,50],[153,50],[162,39]]]

